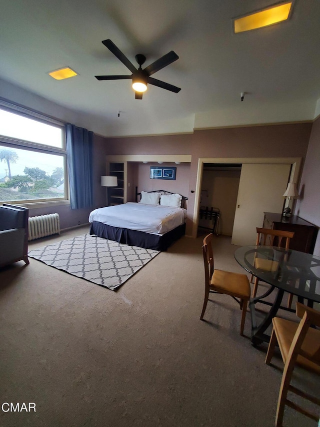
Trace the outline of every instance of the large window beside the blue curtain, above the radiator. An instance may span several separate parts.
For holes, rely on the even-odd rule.
[[[0,101],[0,203],[67,199],[64,125]]]

